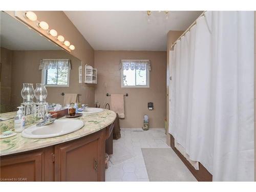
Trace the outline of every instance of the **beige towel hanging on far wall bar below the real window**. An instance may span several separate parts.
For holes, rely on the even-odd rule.
[[[119,118],[124,118],[123,94],[111,94],[111,110],[116,112]]]

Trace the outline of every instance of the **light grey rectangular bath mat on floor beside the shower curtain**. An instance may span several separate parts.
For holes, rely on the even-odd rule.
[[[150,181],[197,181],[172,148],[141,148]]]

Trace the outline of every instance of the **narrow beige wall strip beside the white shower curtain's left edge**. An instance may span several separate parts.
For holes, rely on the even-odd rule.
[[[169,50],[171,49],[173,42],[175,42],[184,31],[169,31],[167,34],[167,67],[166,67],[166,116],[169,121]],[[167,123],[168,126],[168,123]],[[167,144],[170,146],[170,136],[167,132]]]

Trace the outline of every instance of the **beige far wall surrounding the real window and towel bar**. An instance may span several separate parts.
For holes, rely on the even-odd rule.
[[[150,88],[121,88],[121,59],[150,59]],[[142,127],[143,115],[150,118],[150,127],[164,127],[166,118],[166,52],[165,51],[95,51],[95,68],[98,72],[98,84],[95,101],[101,106],[104,99],[110,103],[106,93],[125,94],[125,119],[120,119],[121,127]],[[104,83],[107,87],[104,88]],[[154,102],[154,110],[147,109],[147,102]],[[104,106],[102,106],[104,107]]]

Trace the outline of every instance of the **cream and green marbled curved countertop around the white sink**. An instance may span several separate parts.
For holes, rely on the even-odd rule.
[[[62,117],[61,119],[63,118],[66,117]],[[115,118],[116,113],[110,110],[104,110],[101,113],[88,114],[83,115],[82,117],[73,118],[80,119],[84,122],[84,126],[80,130],[67,135],[47,139],[24,138],[22,137],[21,133],[18,133],[13,137],[0,139],[0,156],[36,150],[37,148],[47,147],[78,139],[80,137],[84,137],[104,129],[104,127],[113,123]]]

